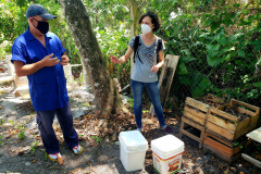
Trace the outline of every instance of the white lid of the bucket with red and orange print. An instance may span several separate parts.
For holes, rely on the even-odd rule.
[[[171,158],[184,151],[184,142],[173,135],[151,140],[151,150],[162,159]]]

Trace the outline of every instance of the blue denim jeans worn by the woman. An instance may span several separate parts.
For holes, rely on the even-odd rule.
[[[144,91],[144,86],[146,86],[151,102],[154,107],[154,112],[156,115],[160,122],[161,126],[165,126],[165,121],[163,116],[163,110],[160,101],[160,88],[159,88],[159,82],[154,83],[140,83],[137,80],[130,80],[130,85],[133,88],[133,95],[134,95],[134,114],[135,114],[135,120],[137,124],[137,128],[142,127],[142,122],[141,122],[141,115],[142,115],[142,109],[141,109],[141,103],[142,103],[142,91]]]

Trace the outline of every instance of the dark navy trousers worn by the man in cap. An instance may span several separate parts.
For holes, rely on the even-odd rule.
[[[52,128],[54,115],[58,117],[67,147],[72,149],[78,145],[78,135],[73,126],[73,114],[70,104],[50,111],[36,111],[36,122],[47,153],[58,153],[60,150],[57,135]]]

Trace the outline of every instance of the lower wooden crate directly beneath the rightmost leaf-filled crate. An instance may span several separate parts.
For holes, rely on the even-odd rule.
[[[214,152],[219,158],[233,162],[240,158],[241,152],[246,149],[247,145],[250,144],[250,140],[243,136],[236,140],[227,140],[220,135],[206,129],[204,139],[203,139],[203,148]]]

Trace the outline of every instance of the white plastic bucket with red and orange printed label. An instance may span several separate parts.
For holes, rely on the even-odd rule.
[[[153,167],[160,174],[173,174],[181,170],[184,142],[173,135],[151,140]]]

